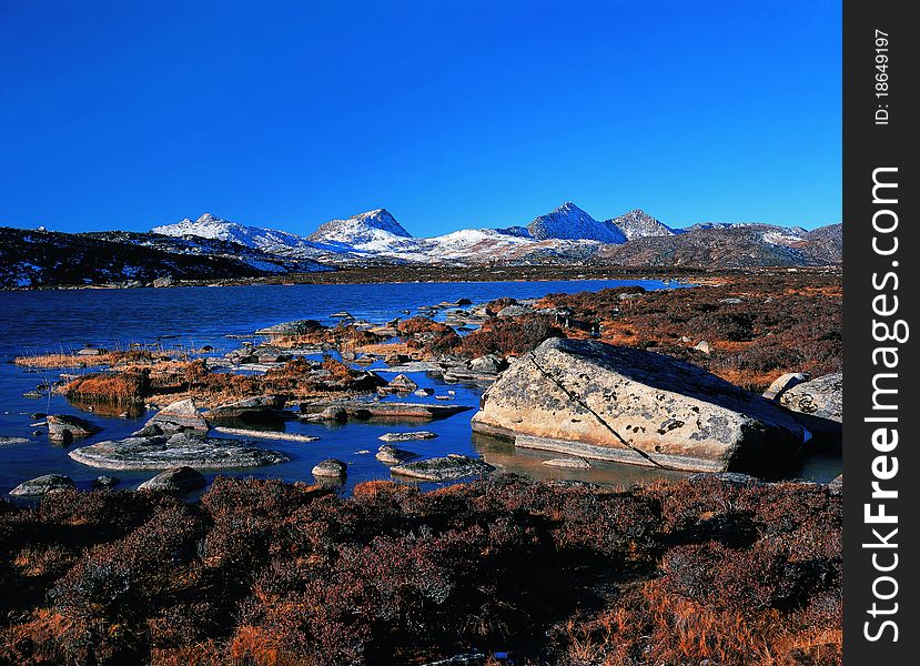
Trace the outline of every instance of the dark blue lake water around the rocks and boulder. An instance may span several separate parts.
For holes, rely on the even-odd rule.
[[[0,445],[0,494],[6,495],[24,480],[48,473],[72,477],[79,487],[104,470],[88,467],[71,461],[67,452],[102,440],[127,436],[138,430],[152,413],[137,418],[107,417],[97,412],[81,411],[61,396],[40,400],[22,394],[41,384],[54,381],[61,371],[28,371],[13,365],[18,355],[71,351],[87,344],[110,349],[127,347],[129,343],[159,343],[165,350],[214,346],[214,354],[239,347],[246,340],[228,336],[251,336],[261,327],[295,319],[315,319],[326,324],[337,320],[330,315],[346,310],[356,319],[385,322],[401,316],[402,310],[415,310],[461,297],[474,303],[499,296],[516,299],[538,297],[547,293],[596,291],[605,287],[641,284],[646,289],[666,289],[657,281],[565,281],[565,282],[489,282],[489,283],[411,283],[411,284],[301,284],[270,286],[175,287],[161,290],[77,290],[49,292],[0,292],[0,435],[28,437],[27,444]],[[249,337],[255,341],[255,337]],[[385,367],[378,370],[385,379],[393,376]],[[85,371],[83,371],[85,372]],[[431,386],[436,394],[455,391],[455,400],[446,404],[475,407],[482,393],[476,385],[447,385],[436,377],[413,374],[421,386]],[[393,398],[387,398],[393,400]],[[413,402],[435,398],[412,396]],[[102,432],[82,440],[71,447],[50,444],[42,431],[32,435],[30,414],[34,412],[77,414],[100,427]],[[475,408],[442,421],[429,423],[317,425],[289,422],[289,432],[317,435],[312,443],[257,440],[257,445],[283,451],[291,462],[270,467],[241,471],[257,477],[309,481],[313,465],[325,457],[337,457],[348,464],[347,491],[355,483],[372,478],[390,478],[390,471],[374,458],[377,437],[386,432],[428,430],[439,436],[401,446],[424,457],[462,453],[481,455],[502,470],[523,472],[539,478],[578,478],[607,484],[631,484],[643,478],[677,474],[660,473],[641,467],[593,463],[588,471],[556,470],[542,464],[552,454],[517,452],[514,446],[473,436],[469,418]],[[42,428],[38,428],[42,430]],[[226,436],[226,435],[221,435]],[[800,472],[803,477],[830,481],[839,474],[832,458],[809,461]],[[122,480],[120,487],[133,487],[153,473],[113,472]],[[425,484],[433,487],[435,484]]]

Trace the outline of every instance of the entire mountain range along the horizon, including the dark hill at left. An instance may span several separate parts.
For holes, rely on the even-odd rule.
[[[673,229],[641,209],[601,222],[572,202],[527,226],[462,229],[431,238],[413,236],[386,209],[331,220],[310,235],[244,225],[212,213],[150,232],[0,231],[8,245],[0,250],[0,286],[6,287],[78,278],[77,283],[149,281],[160,274],[211,279],[371,265],[744,269],[842,261],[840,224],[811,231],[724,222]],[[132,252],[140,263],[132,260]],[[61,269],[74,258],[75,271]],[[99,265],[90,265],[93,261]]]

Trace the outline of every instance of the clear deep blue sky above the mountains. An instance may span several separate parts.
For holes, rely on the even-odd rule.
[[[840,11],[0,0],[0,225],[839,222]]]

